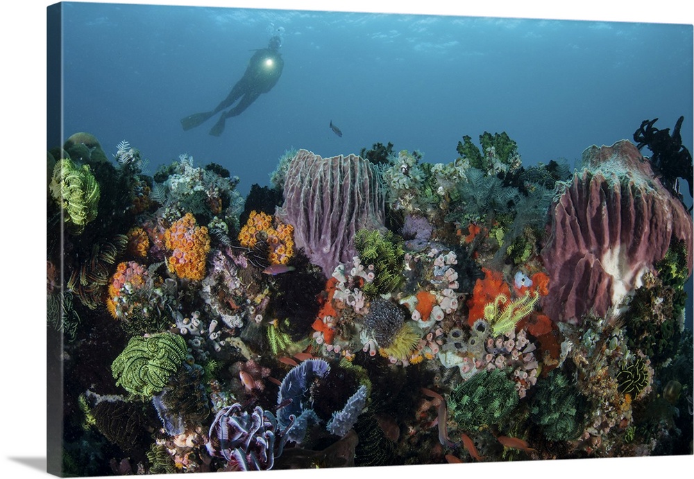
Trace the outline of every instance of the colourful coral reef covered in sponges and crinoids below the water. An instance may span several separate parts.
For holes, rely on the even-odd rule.
[[[652,123],[643,141],[676,145]],[[53,190],[100,191],[69,225],[46,186],[62,472],[691,454],[675,164],[621,141],[574,174],[480,144],[289,151],[245,209],[187,154],[149,177],[127,141],[51,150],[49,183],[72,172]]]

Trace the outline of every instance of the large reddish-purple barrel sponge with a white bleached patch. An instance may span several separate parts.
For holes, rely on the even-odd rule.
[[[691,215],[633,143],[591,146],[583,166],[552,204],[541,253],[550,275],[542,307],[555,321],[579,323],[591,310],[606,315],[641,286],[673,238],[687,245],[692,272]]]

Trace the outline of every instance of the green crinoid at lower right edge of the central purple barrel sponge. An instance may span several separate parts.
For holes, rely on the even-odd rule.
[[[400,286],[405,264],[403,238],[392,232],[382,234],[378,229],[359,229],[355,235],[355,247],[362,265],[365,268],[373,265],[373,281],[362,286],[366,296],[391,293]]]

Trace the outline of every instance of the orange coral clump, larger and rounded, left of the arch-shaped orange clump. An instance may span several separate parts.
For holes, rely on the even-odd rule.
[[[178,277],[200,281],[205,277],[205,261],[210,252],[210,234],[187,213],[164,232],[164,245],[171,252],[169,271]]]

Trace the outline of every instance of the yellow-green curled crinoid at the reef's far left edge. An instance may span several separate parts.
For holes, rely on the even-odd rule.
[[[96,218],[101,190],[89,165],[76,166],[64,158],[53,168],[51,196],[65,211],[65,225],[72,234],[81,234]]]

